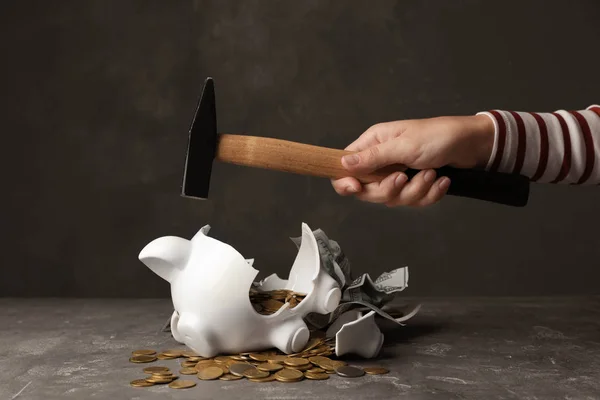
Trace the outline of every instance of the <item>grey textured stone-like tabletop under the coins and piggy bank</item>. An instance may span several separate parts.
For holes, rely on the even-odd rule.
[[[351,360],[388,375],[173,390],[129,386],[156,365],[129,363],[131,350],[175,345],[160,332],[168,300],[0,299],[0,399],[600,399],[600,298],[423,304],[384,327],[378,360]]]

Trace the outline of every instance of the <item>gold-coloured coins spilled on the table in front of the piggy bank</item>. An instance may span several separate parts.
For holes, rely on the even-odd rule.
[[[322,335],[322,334],[321,334]],[[317,336],[319,334],[317,333]],[[333,354],[331,340],[313,337],[304,350],[297,354],[281,354],[276,350],[257,353],[240,353],[229,356],[204,358],[193,351],[166,350],[157,354],[154,350],[136,350],[129,361],[149,363],[156,360],[182,358],[181,375],[196,375],[201,380],[235,381],[247,379],[251,382],[299,382],[303,379],[325,380],[331,374],[347,378],[357,378],[365,374],[379,375],[389,371],[383,367],[359,368],[347,365],[344,361],[327,357]],[[131,386],[147,387],[167,384],[173,389],[196,386],[192,380],[180,380],[167,367],[144,368],[150,375],[145,379],[136,379]]]

